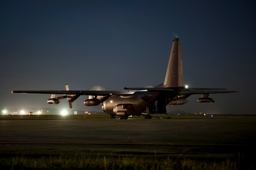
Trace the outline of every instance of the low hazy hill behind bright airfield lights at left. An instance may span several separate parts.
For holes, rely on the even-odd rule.
[[[4,108],[0,108],[0,114],[3,113]],[[33,114],[38,114],[38,111],[40,114],[61,114],[62,109],[51,109],[51,108],[15,108],[15,109],[5,109],[6,114],[29,114],[29,112],[33,112]],[[23,111],[23,113],[22,113]],[[106,114],[105,112],[95,112],[95,111],[85,111],[85,110],[72,110],[67,109],[66,114],[74,114],[74,112],[77,111],[77,114]]]

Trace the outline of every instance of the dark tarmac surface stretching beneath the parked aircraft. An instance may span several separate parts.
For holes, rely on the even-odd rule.
[[[255,165],[256,119],[0,118],[0,158],[157,156]]]

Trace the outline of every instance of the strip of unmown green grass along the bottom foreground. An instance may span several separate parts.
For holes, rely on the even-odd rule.
[[[74,158],[26,158],[18,155],[9,159],[0,159],[1,169],[239,169],[236,162],[208,163],[197,162],[189,159],[172,160],[169,158],[157,159],[154,157],[119,156],[106,158],[98,156],[91,159],[89,156],[81,155]],[[253,169],[253,167],[251,167]]]

